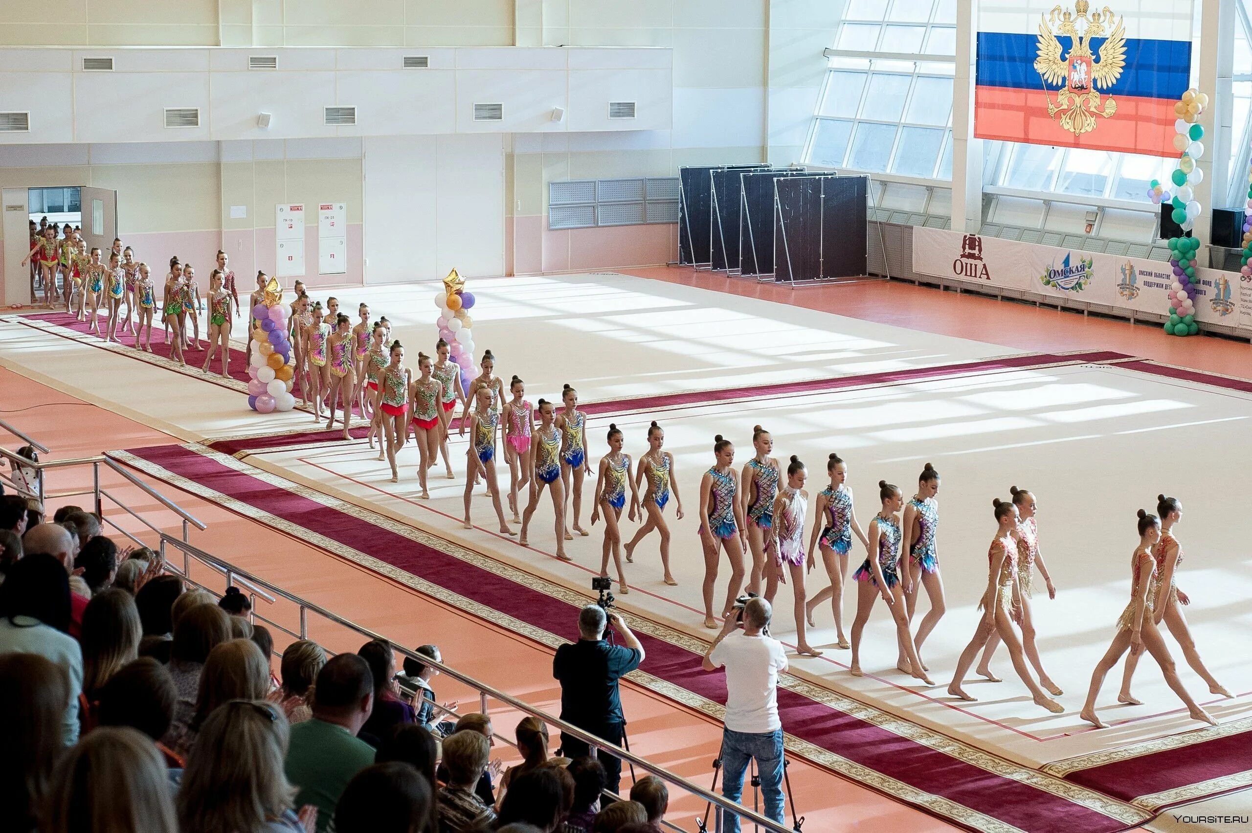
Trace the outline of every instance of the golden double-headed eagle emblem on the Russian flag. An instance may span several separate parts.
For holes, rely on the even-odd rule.
[[[1114,19],[1108,6],[1093,11],[1089,18],[1087,0],[1077,0],[1073,13],[1055,6],[1040,15],[1038,58],[1034,59],[1034,69],[1045,85],[1044,95],[1048,84],[1060,86],[1055,101],[1048,96],[1048,115],[1055,118],[1060,113],[1060,127],[1074,135],[1094,130],[1097,115],[1107,119],[1117,113],[1117,101],[1112,96],[1101,101],[1097,88],[1108,89],[1126,69],[1123,20]],[[1059,38],[1069,38],[1069,54],[1064,56]],[[1104,43],[1098,59],[1093,59],[1092,41],[1101,38]]]

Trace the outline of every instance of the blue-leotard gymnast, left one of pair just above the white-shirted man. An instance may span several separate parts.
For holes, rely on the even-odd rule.
[[[700,480],[700,542],[704,545],[705,577],[705,628],[714,630],[717,623],[726,618],[735,605],[739,590],[744,584],[744,505],[736,500],[739,477],[731,468],[735,462],[735,446],[719,433],[714,437],[712,452],[715,462]],[[726,587],[726,604],[721,616],[712,613],[714,586],[717,582],[717,560],[720,550],[730,559],[730,584]]]

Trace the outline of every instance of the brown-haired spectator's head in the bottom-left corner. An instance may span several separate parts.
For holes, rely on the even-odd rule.
[[[0,827],[35,829],[48,777],[65,750],[61,717],[70,699],[65,671],[38,654],[0,655]]]

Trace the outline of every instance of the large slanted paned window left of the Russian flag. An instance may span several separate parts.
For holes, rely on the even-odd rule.
[[[849,0],[804,160],[952,179],[957,0]],[[854,54],[855,53],[855,54]]]

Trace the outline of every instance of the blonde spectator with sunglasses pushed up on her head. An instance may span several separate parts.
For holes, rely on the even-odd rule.
[[[273,703],[237,699],[215,708],[183,770],[180,833],[303,833],[293,808],[295,789],[283,773],[288,733],[287,718]]]

